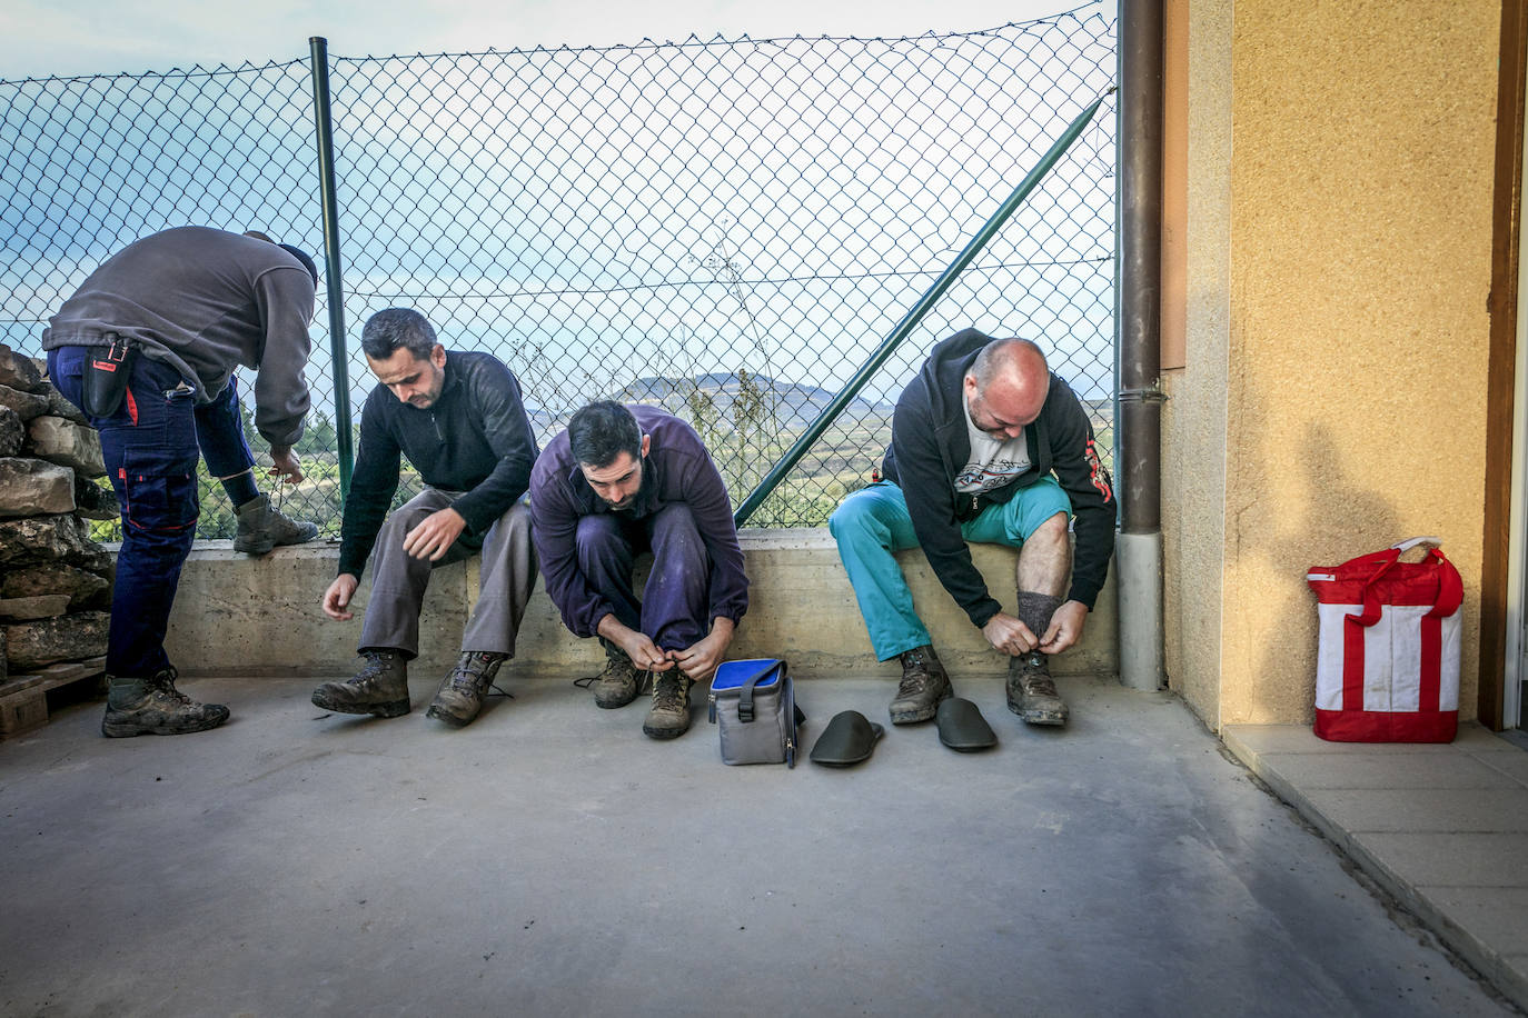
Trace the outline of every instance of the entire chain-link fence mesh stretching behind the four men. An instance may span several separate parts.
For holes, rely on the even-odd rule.
[[[167,226],[321,252],[310,72],[0,82],[3,340],[38,353],[95,264]],[[1109,89],[1115,24],[330,58],[329,76],[347,331],[420,310],[510,365],[542,444],[588,400],[662,403],[736,504]],[[822,525],[869,481],[927,348],[966,327],[1038,339],[1112,447],[1114,134],[1109,99],[750,525]],[[336,534],[336,385],[359,408],[371,377],[358,342],[332,362],[319,298],[310,476],[286,507]],[[202,536],[232,533],[223,505],[203,499]]]

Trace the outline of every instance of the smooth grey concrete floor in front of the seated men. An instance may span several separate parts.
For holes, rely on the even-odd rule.
[[[958,681],[876,755],[726,768],[501,679],[472,726],[202,679],[214,733],[0,745],[5,1015],[1500,1015],[1166,694],[1067,679],[1065,731]],[[810,748],[883,679],[798,685]]]

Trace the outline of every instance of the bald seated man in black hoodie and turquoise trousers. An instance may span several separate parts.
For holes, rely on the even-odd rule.
[[[987,643],[1010,655],[1008,710],[1031,725],[1067,723],[1047,655],[1082,636],[1115,516],[1077,397],[1033,342],[966,330],[938,343],[903,389],[882,472],[885,481],[843,499],[828,530],[876,658],[902,658],[892,723],[927,720],[953,693],[892,557],[917,546]],[[1013,614],[987,592],[967,540],[1019,548]]]

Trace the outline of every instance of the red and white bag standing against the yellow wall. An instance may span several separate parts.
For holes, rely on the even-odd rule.
[[[1332,742],[1453,742],[1464,583],[1436,537],[1305,574],[1316,591],[1316,734]],[[1432,545],[1421,562],[1401,552]]]

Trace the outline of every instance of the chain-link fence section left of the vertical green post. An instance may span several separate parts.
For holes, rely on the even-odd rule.
[[[43,354],[47,317],[84,278],[147,234],[186,224],[260,229],[322,249],[312,75],[303,61],[0,81],[0,342],[32,356]],[[325,321],[315,316],[315,353],[327,350]],[[252,379],[240,374],[248,391]],[[333,403],[333,371],[321,353],[309,382],[315,404]],[[244,409],[254,440],[248,397]],[[333,426],[325,443],[310,423],[299,452],[315,473],[325,459],[333,473]],[[234,508],[205,466],[200,473],[197,534],[232,537]],[[330,499],[322,484],[287,504],[338,533],[338,488]],[[113,539],[118,527],[96,525],[96,536]]]

